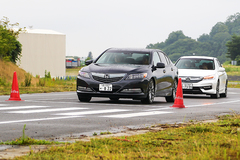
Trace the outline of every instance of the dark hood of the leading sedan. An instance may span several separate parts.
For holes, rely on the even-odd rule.
[[[96,73],[141,73],[149,70],[149,65],[90,64],[83,68],[86,72]]]

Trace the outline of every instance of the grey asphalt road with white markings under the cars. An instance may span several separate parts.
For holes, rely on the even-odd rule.
[[[36,139],[59,140],[64,137],[91,136],[94,132],[119,132],[154,124],[172,124],[189,120],[215,119],[216,116],[240,112],[240,89],[230,88],[227,98],[184,95],[186,108],[171,108],[157,97],[151,105],[140,101],[93,98],[78,101],[76,92],[20,95],[24,101],[6,101],[0,96],[0,141],[10,141],[25,134]]]

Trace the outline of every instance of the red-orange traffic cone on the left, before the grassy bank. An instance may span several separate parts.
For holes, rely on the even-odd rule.
[[[18,80],[17,80],[17,73],[13,73],[13,83],[12,83],[12,90],[11,95],[8,101],[21,101],[19,96],[19,88],[18,88]]]

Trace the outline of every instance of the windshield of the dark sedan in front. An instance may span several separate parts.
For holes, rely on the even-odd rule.
[[[98,60],[96,64],[137,64],[149,65],[150,53],[132,52],[132,51],[107,51]]]

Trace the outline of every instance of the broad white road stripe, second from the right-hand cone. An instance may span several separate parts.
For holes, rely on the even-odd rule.
[[[64,115],[64,116],[70,116],[70,115],[86,115],[86,114],[99,114],[99,113],[112,113],[112,112],[125,112],[125,111],[131,111],[131,110],[124,110],[124,109],[108,109],[108,110],[94,110],[94,111],[84,111],[84,112],[68,112],[68,113],[56,113],[53,115]]]

